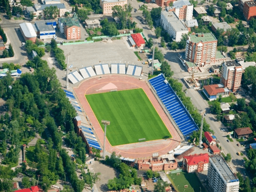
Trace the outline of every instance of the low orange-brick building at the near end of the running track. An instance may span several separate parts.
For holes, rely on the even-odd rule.
[[[158,156],[153,154],[150,159],[137,160],[139,170],[149,170],[154,172],[169,171],[177,169],[178,163],[172,154]]]

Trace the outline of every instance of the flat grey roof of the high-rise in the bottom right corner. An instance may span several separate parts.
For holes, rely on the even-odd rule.
[[[226,180],[227,183],[234,182],[234,180],[238,179],[235,177],[229,166],[227,166],[227,163],[218,155],[210,157],[214,165],[217,167],[219,173],[222,175],[222,177]]]

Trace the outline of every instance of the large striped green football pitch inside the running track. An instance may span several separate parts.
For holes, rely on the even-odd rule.
[[[172,137],[143,89],[91,94],[86,99],[99,123],[110,121],[107,138],[112,146]]]

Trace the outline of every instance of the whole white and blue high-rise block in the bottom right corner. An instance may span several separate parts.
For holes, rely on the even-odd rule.
[[[221,156],[209,158],[207,177],[213,192],[239,192],[239,180]]]

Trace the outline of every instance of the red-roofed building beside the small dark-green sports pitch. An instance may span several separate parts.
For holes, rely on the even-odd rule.
[[[203,172],[208,170],[209,166],[209,155],[204,154],[193,154],[183,157],[183,169],[188,173],[191,172]]]

